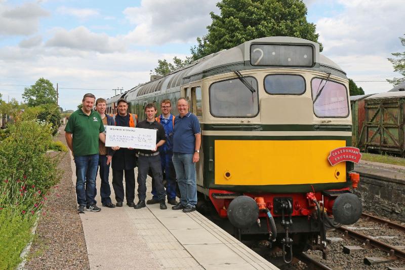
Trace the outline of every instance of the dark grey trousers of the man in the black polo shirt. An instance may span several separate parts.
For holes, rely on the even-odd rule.
[[[146,176],[149,169],[154,177],[154,186],[157,192],[157,200],[165,201],[166,191],[163,186],[163,175],[161,173],[160,156],[146,157],[139,155],[138,158],[138,198],[140,201],[146,199]]]

